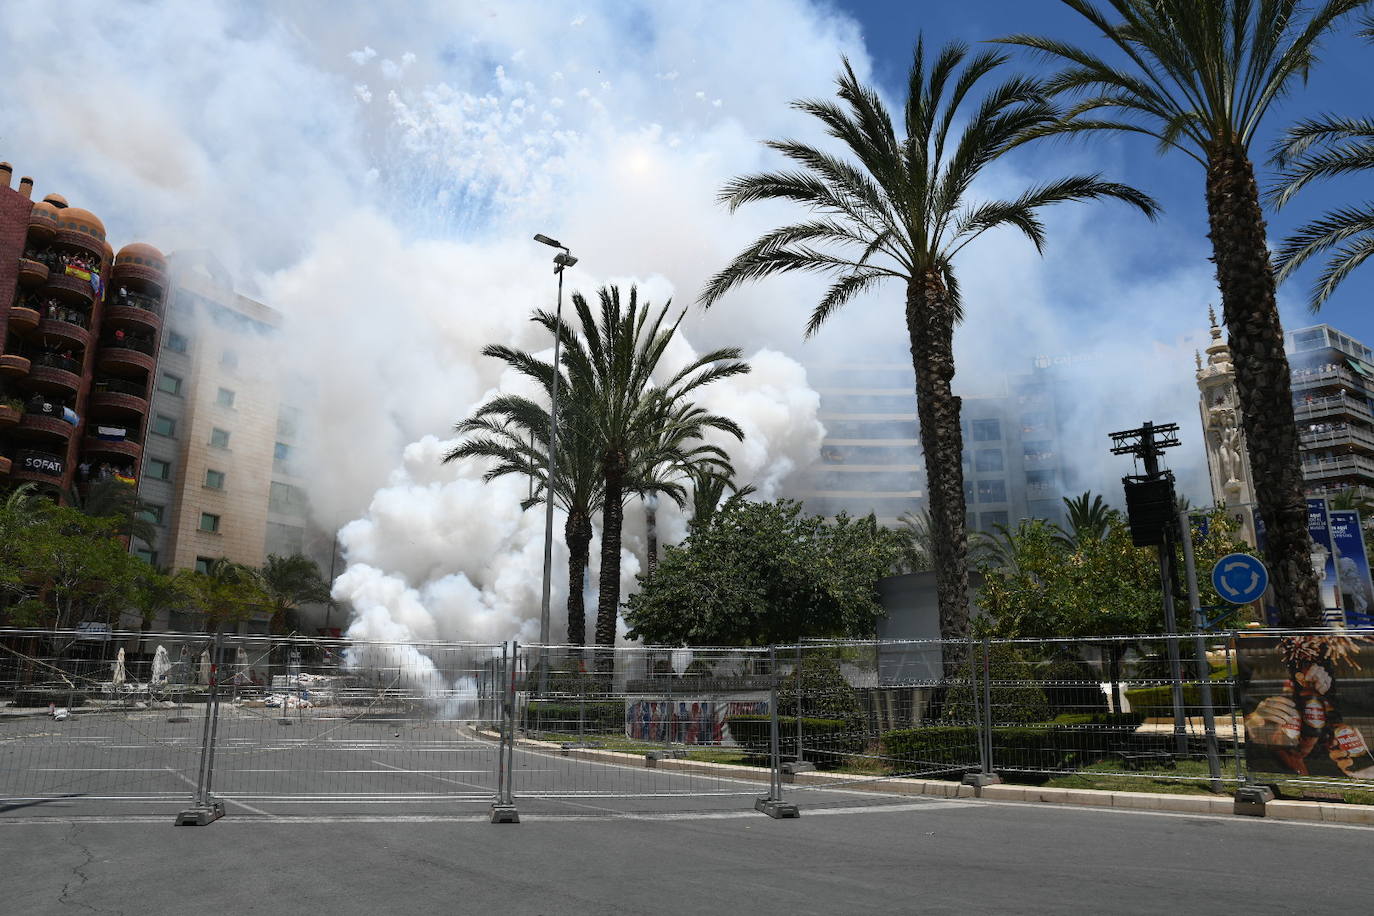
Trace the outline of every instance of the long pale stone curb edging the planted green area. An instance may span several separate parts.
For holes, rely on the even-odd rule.
[[[484,737],[499,737],[496,733],[478,732]],[[515,739],[519,747],[547,751],[559,757],[585,759],[589,762],[616,764],[620,766],[650,766],[643,754],[627,751],[598,751],[584,747],[565,748],[552,742],[536,742],[528,737]],[[769,781],[769,772],[757,766],[736,764],[709,764],[682,758],[661,758],[653,761],[654,769],[682,773],[701,773],[754,783]],[[1040,805],[1076,805],[1080,808],[1123,808],[1131,810],[1175,812],[1183,814],[1235,814],[1235,799],[1230,795],[1173,795],[1168,792],[1107,792],[1096,788],[1044,788],[1040,786],[965,786],[940,779],[871,777],[857,780],[844,773],[807,772],[783,776],[783,783],[794,786],[833,787],[849,791],[883,792],[888,795],[927,795],[932,798],[987,798],[999,802],[1032,802]],[[1264,806],[1264,816],[1275,820],[1305,821],[1315,824],[1356,824],[1374,827],[1374,805],[1330,805],[1326,802],[1272,801]]]

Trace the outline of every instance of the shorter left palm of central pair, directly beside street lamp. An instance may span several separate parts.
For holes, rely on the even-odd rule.
[[[540,320],[536,316],[534,320]],[[552,330],[552,327],[551,327]],[[539,382],[551,394],[554,367],[532,354],[504,346],[489,346],[484,354],[506,361],[517,371]],[[567,643],[587,643],[587,610],[583,584],[587,575],[592,542],[592,514],[600,508],[602,474],[600,453],[585,422],[584,405],[569,396],[569,382],[559,382],[563,393],[559,402],[558,468],[554,474],[554,505],[566,514],[563,542],[567,545]],[[548,409],[534,401],[503,394],[474,411],[453,430],[470,438],[460,442],[444,461],[481,457],[495,461],[482,475],[495,481],[507,474],[519,474],[533,482],[529,499],[521,505],[530,508],[544,503],[548,492]]]

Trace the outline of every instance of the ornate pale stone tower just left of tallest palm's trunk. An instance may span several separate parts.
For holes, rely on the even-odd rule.
[[[1241,428],[1235,368],[1231,365],[1231,347],[1221,339],[1216,310],[1210,306],[1208,319],[1212,323],[1212,343],[1206,349],[1205,365],[1202,354],[1197,354],[1197,379],[1212,499],[1217,504],[1226,503],[1227,512],[1237,522],[1237,534],[1253,545],[1254,522],[1250,509],[1254,504],[1254,478],[1250,475],[1250,452],[1245,445],[1245,430]]]

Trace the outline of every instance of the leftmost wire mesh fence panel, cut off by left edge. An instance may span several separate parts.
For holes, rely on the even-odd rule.
[[[0,630],[0,810],[183,805],[206,698],[191,659],[207,643],[184,633]]]

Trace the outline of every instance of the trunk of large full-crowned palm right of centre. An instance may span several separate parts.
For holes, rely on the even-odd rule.
[[[930,540],[934,548],[940,636],[963,640],[969,633],[969,540],[963,500],[963,433],[954,380],[954,308],[938,271],[930,269],[907,287],[907,331],[916,371],[916,415],[926,457],[930,494]],[[958,652],[958,650],[955,650]],[[947,654],[948,658],[948,654]]]

